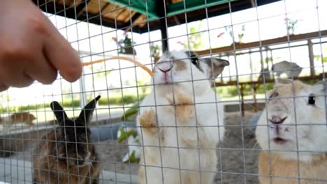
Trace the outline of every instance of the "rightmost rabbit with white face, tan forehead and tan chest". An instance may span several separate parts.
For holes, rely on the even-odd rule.
[[[279,79],[268,93],[256,128],[263,148],[261,184],[270,183],[270,178],[274,184],[327,183],[325,94],[324,83],[311,86],[289,79]]]

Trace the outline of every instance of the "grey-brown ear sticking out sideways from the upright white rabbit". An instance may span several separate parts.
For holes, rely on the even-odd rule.
[[[212,79],[218,77],[224,70],[225,66],[229,66],[229,62],[218,58],[204,58],[203,61],[208,65],[207,76]]]

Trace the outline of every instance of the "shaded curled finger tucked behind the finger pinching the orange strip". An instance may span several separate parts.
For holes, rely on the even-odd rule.
[[[27,75],[32,79],[36,79],[43,84],[51,84],[57,79],[57,70],[48,63],[47,59],[41,52],[39,56],[34,56],[34,61],[27,68]]]

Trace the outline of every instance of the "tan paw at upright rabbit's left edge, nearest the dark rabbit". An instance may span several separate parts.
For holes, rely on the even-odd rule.
[[[140,115],[140,126],[143,130],[147,130],[152,133],[157,132],[157,117],[154,110],[148,110]]]

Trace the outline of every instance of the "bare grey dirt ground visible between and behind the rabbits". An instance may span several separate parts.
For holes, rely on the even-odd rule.
[[[242,123],[246,125],[252,115],[246,113]],[[246,127],[241,128],[240,112],[226,113],[225,125],[225,139],[217,146],[219,161],[215,183],[257,183],[256,159],[259,151],[256,149],[259,146],[256,145],[254,132]],[[34,146],[31,146],[24,153],[11,155],[11,158],[31,160],[33,148]],[[96,150],[103,170],[137,174],[138,164],[122,162],[124,154],[128,151],[126,143],[118,144],[115,140],[101,141],[96,143]]]

